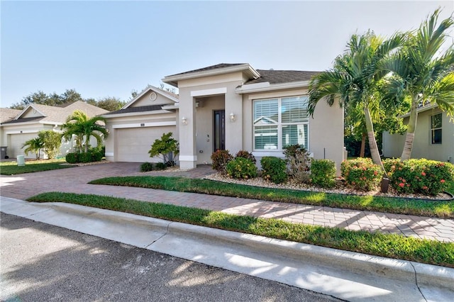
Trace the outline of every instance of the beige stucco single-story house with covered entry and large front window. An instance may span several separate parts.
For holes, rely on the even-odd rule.
[[[343,160],[343,109],[321,101],[307,116],[309,80],[317,72],[261,70],[249,64],[219,64],[173,74],[163,82],[179,96],[149,86],[120,111],[105,114],[110,135],[106,159],[155,162],[156,138],[179,140],[179,167],[210,163],[218,149],[258,158],[284,157],[286,145],[304,145],[316,159]]]

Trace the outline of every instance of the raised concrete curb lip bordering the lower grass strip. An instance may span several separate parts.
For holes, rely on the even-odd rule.
[[[38,203],[43,205],[43,203]],[[100,219],[115,220],[120,223],[133,223],[135,225],[148,225],[150,228],[167,230],[167,233],[189,235],[216,241],[231,242],[236,245],[294,259],[310,259],[315,263],[338,269],[348,269],[359,273],[387,276],[392,279],[408,281],[416,279],[418,285],[443,286],[452,289],[454,269],[438,267],[431,264],[409,262],[406,260],[391,259],[358,252],[336,250],[329,247],[319,247],[305,243],[279,240],[259,235],[250,235],[200,225],[178,223],[159,218],[138,216],[131,213],[116,212],[88,206],[79,206],[71,203],[48,203],[53,208],[65,211],[74,211],[80,214],[98,217]]]

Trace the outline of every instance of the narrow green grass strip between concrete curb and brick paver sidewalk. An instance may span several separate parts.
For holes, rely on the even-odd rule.
[[[454,243],[452,242],[302,225],[274,218],[236,216],[200,208],[149,203],[111,196],[50,192],[28,198],[28,201],[75,203],[368,255],[454,267]]]

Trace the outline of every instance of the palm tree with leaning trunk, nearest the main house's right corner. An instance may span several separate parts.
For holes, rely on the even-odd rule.
[[[377,69],[380,60],[404,43],[404,35],[396,34],[388,40],[374,33],[352,35],[348,50],[336,58],[332,69],[321,72],[309,84],[309,114],[314,116],[316,104],[321,99],[332,106],[337,100],[341,106],[362,108],[372,161],[384,171],[372,117],[378,114],[382,94],[380,80],[386,72]]]

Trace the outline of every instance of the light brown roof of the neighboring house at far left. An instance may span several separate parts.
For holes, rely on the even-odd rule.
[[[10,123],[27,123],[31,121],[35,121],[36,123],[62,124],[66,122],[68,116],[77,110],[83,111],[90,118],[109,112],[103,108],[87,104],[84,101],[76,101],[65,107],[29,104],[23,109],[23,111],[21,111],[21,113],[18,114],[18,116],[16,116],[16,118],[13,119],[13,121],[2,123],[2,125]],[[35,111],[35,113],[39,113],[40,116],[23,118],[28,111]]]

